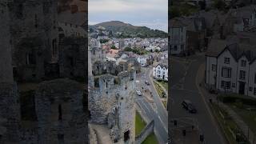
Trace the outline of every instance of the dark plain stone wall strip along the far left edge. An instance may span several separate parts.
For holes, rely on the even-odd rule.
[[[0,142],[18,143],[19,142],[19,126],[20,114],[18,104],[18,88],[14,83],[13,72],[11,66],[11,50],[10,50],[10,31],[9,31],[9,12],[6,1],[0,2]]]

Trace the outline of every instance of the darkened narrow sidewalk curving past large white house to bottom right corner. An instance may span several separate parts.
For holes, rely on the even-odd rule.
[[[200,66],[199,69],[201,69],[201,71],[204,72],[204,69],[205,66]],[[199,70],[198,70],[199,71]],[[203,97],[206,98],[206,100],[209,100],[209,99],[212,99],[213,102],[217,102],[217,95],[216,94],[210,94],[208,92],[208,90],[206,90],[205,86],[203,85],[204,81],[203,81],[203,78],[204,78],[204,75],[205,74],[199,74],[201,76],[201,78],[198,78],[200,79],[201,81],[198,81],[201,83],[201,87],[200,87],[200,90],[203,94]],[[207,102],[209,104],[209,102]],[[246,122],[244,122],[242,120],[242,118],[236,114],[234,112],[234,110],[232,110],[230,108],[230,106],[226,106],[226,104],[224,104],[223,102],[218,102],[218,106],[220,106],[222,109],[226,110],[226,112],[230,115],[230,117],[234,120],[234,122],[237,123],[237,125],[239,126],[239,128],[242,130],[242,133],[246,135],[246,138],[248,138],[248,135],[249,135],[249,142],[251,144],[256,144],[256,138],[254,138],[254,133],[252,132],[252,130],[250,130],[250,127],[246,124]]]

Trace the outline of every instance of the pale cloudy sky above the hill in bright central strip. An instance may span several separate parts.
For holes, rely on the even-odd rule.
[[[121,21],[168,30],[168,0],[89,0],[89,25]]]

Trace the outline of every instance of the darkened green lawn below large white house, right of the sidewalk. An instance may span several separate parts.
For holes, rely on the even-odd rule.
[[[234,103],[231,103],[229,106],[246,122],[250,130],[256,134],[256,110],[247,110],[246,107],[241,109],[235,106]]]

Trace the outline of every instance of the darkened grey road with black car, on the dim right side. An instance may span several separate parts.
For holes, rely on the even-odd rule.
[[[225,143],[224,138],[206,107],[204,98],[198,91],[196,78],[199,66],[205,61],[203,55],[188,58],[187,62],[181,58],[173,58],[171,61],[171,94],[170,106],[171,118],[194,118],[198,121],[198,127],[206,139],[206,144]],[[183,99],[189,99],[194,103],[198,114],[190,114],[182,109]]]

